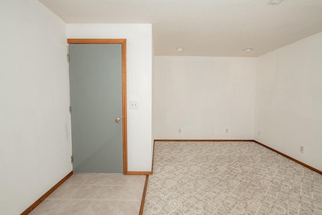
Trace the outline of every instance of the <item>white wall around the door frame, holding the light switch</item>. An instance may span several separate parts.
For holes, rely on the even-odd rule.
[[[151,171],[151,24],[67,24],[67,38],[126,39],[128,171]],[[139,109],[129,109],[129,101]]]

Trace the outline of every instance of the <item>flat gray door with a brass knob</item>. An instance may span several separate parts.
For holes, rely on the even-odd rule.
[[[123,172],[121,46],[69,44],[74,172]]]

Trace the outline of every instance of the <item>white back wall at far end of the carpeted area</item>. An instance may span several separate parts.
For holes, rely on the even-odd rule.
[[[154,138],[253,139],[256,61],[155,56]]]

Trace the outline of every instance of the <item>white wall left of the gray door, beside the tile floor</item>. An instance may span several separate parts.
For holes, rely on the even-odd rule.
[[[72,170],[66,24],[6,0],[0,26],[0,213],[20,214]]]

